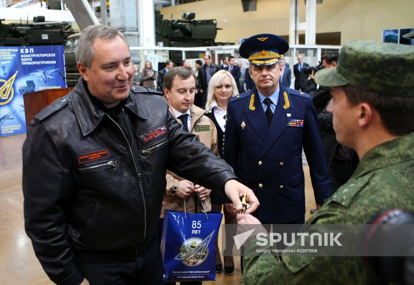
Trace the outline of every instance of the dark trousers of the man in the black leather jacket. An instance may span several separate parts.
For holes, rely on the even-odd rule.
[[[135,250],[76,252],[76,263],[91,285],[162,284],[163,264],[155,233],[139,254]]]

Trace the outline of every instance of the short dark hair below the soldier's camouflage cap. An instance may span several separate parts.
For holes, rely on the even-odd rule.
[[[414,98],[385,96],[352,85],[343,86],[343,89],[351,105],[370,104],[390,134],[404,136],[414,130]]]

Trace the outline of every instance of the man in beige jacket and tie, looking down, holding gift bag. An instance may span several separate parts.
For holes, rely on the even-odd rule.
[[[164,77],[164,98],[170,105],[170,112],[188,132],[195,134],[199,141],[218,155],[217,129],[214,123],[204,115],[204,110],[193,105],[195,95],[195,74],[185,67],[174,67]],[[162,202],[159,220],[159,237],[161,237],[164,210],[201,213],[211,210],[209,194],[206,189],[167,170],[167,185]],[[197,201],[200,200],[200,201]],[[204,208],[201,203],[204,204]],[[197,207],[195,205],[197,204]]]

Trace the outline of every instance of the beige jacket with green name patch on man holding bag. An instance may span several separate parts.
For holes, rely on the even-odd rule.
[[[165,96],[164,96],[165,98]],[[171,107],[170,111],[173,114]],[[191,112],[191,129],[190,132],[197,135],[205,146],[211,148],[215,155],[218,155],[217,150],[217,129],[214,123],[206,116],[204,116],[204,110],[193,105],[190,108]],[[174,114],[173,114],[174,115]],[[175,117],[175,116],[174,116]],[[177,119],[177,122],[182,124],[180,119]],[[166,175],[167,186],[164,193],[164,198],[162,201],[162,209],[160,218],[164,218],[164,210],[170,209],[174,211],[183,211],[184,212],[184,202],[182,198],[179,198],[171,194],[173,187],[178,187],[178,181],[184,180],[184,178],[179,177],[173,172],[167,170]],[[210,197],[204,200],[203,202],[206,211],[211,211],[211,201]],[[189,196],[185,199],[185,208],[188,213],[195,213],[194,208],[194,195]],[[204,212],[200,201],[197,201],[197,213]]]

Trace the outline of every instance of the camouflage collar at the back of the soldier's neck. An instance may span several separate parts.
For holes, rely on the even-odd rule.
[[[359,162],[352,177],[360,177],[373,170],[409,160],[414,160],[414,133],[387,141],[369,150]]]

